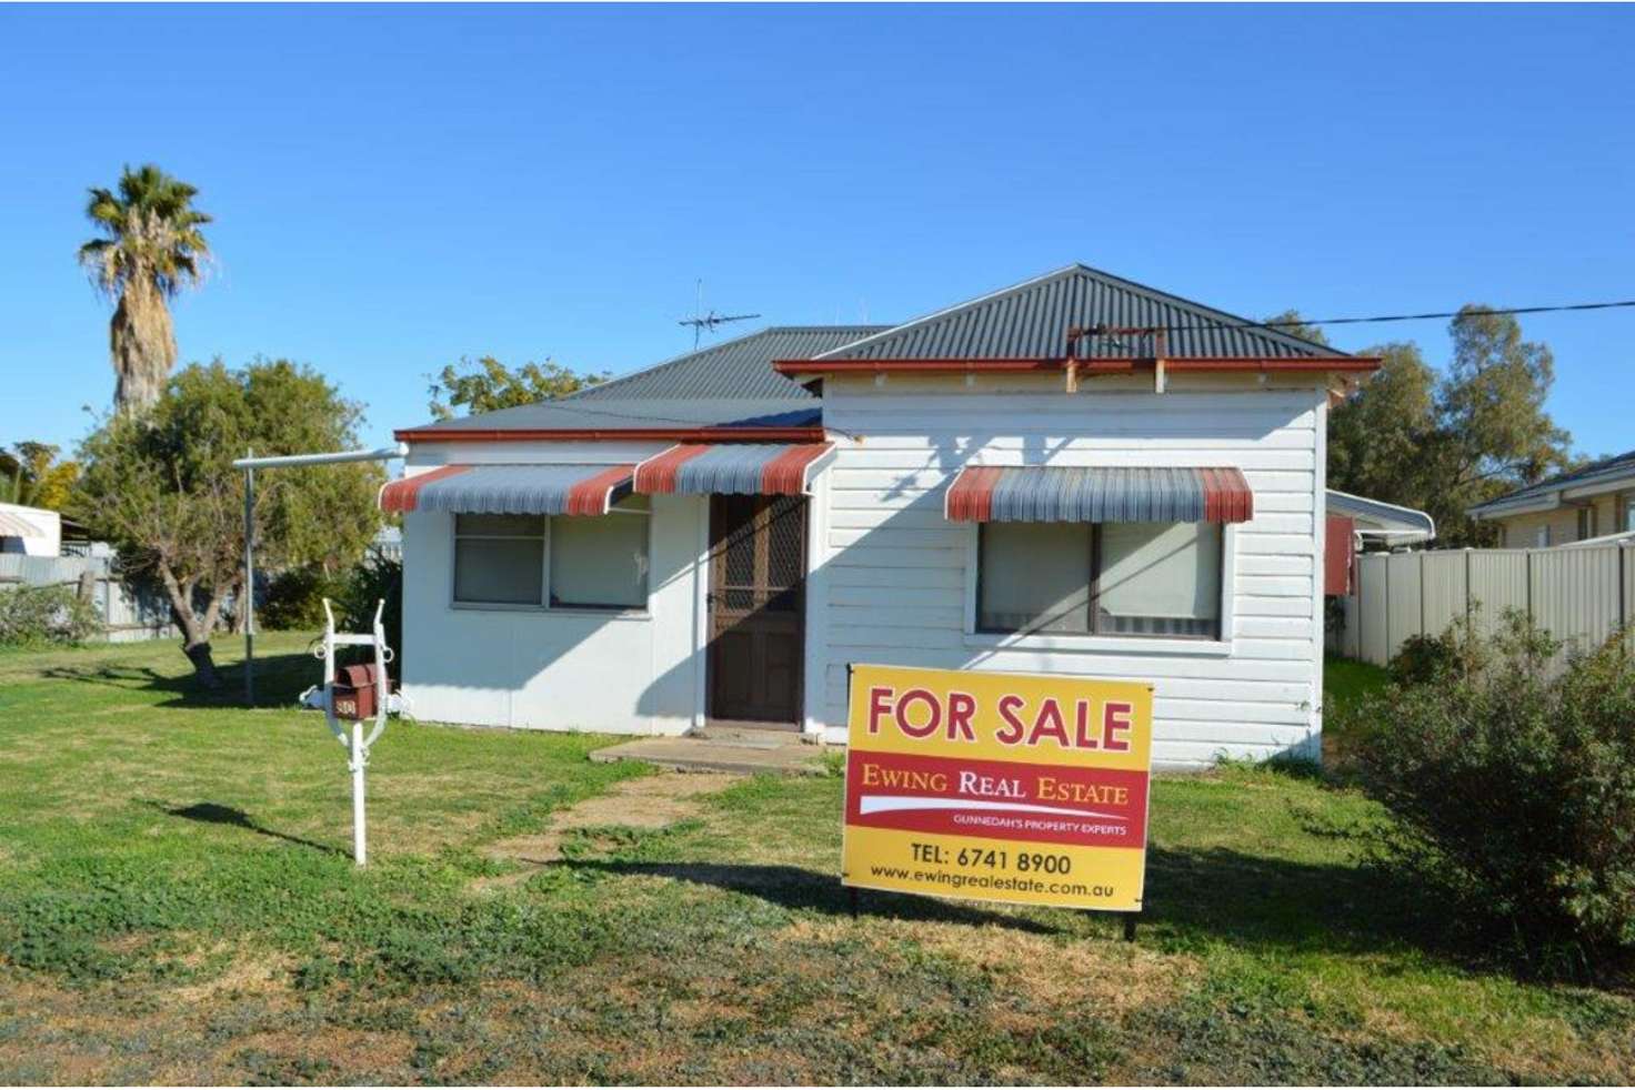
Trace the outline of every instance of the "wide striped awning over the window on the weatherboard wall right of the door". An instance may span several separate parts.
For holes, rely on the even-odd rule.
[[[1231,467],[971,466],[943,513],[960,523],[1246,523],[1254,494]]]

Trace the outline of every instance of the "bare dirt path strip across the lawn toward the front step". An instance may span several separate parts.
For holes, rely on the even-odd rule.
[[[724,791],[739,778],[728,773],[661,771],[652,776],[621,780],[605,794],[585,799],[551,815],[551,824],[536,833],[507,837],[484,851],[490,860],[541,868],[562,858],[562,840],[576,829],[664,829],[697,817],[706,794]],[[487,878],[479,887],[512,886],[531,869]]]

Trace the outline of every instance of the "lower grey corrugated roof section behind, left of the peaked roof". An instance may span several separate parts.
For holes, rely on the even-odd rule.
[[[772,369],[773,360],[809,360],[889,325],[773,325],[772,328],[667,360],[634,374],[569,394],[564,402],[651,397],[813,400],[798,382]]]

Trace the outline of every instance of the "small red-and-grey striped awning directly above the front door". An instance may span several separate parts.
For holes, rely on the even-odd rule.
[[[809,495],[834,443],[683,443],[636,466],[636,492]]]

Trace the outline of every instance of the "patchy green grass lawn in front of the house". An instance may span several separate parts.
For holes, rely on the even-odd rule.
[[[644,775],[595,737],[391,724],[360,873],[342,748],[289,708],[304,644],[262,641],[257,709],[196,698],[170,642],[0,654],[0,1082],[1635,1080],[1635,1000],[1447,949],[1355,864],[1370,804],[1310,776],[1161,780],[1135,945],[878,894],[852,920],[835,778],[495,861]]]

